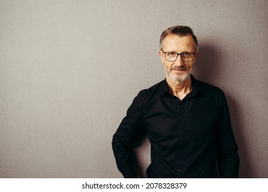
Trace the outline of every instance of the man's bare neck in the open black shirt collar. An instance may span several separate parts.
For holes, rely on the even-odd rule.
[[[168,82],[170,93],[181,100],[192,91],[192,81],[190,75],[185,81],[175,82],[171,80],[170,77],[166,77],[166,81]]]

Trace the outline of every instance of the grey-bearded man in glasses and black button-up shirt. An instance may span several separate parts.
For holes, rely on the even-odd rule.
[[[197,37],[187,26],[166,29],[159,56],[166,79],[140,91],[113,135],[113,153],[124,178],[137,178],[130,146],[140,129],[151,144],[148,178],[238,178],[238,147],[221,89],[191,75]],[[216,162],[218,160],[218,162]]]

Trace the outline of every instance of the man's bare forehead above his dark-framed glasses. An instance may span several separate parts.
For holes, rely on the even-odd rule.
[[[187,36],[171,34],[164,39],[163,49],[165,51],[194,51],[194,40],[190,34]]]

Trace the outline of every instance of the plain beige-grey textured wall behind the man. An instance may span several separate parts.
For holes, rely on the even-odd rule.
[[[0,177],[122,177],[111,137],[138,91],[164,79],[161,32],[189,25],[194,75],[227,95],[240,176],[268,178],[267,10],[265,0],[1,0]]]

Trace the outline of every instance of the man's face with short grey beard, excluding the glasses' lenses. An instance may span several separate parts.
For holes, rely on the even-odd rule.
[[[178,56],[177,60],[174,62],[167,61],[165,58],[164,52],[175,52],[175,53],[184,53],[192,52],[196,50],[194,48],[194,40],[191,35],[188,36],[177,36],[169,35],[164,39],[162,50],[159,51],[159,56],[161,62],[164,64],[164,70],[166,71],[166,77],[170,78],[174,82],[183,82],[192,72],[192,67],[197,58],[197,54],[194,55],[194,58],[190,62],[183,62],[181,56]]]

